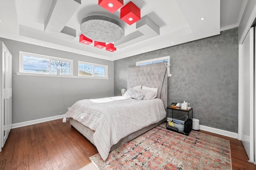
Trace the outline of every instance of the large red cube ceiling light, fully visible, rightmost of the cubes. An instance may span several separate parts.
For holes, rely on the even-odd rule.
[[[132,1],[130,1],[128,4],[121,8],[120,18],[129,25],[132,25],[133,23],[140,20],[140,8],[138,8]]]

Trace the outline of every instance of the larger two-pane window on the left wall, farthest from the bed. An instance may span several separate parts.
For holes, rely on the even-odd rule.
[[[73,60],[20,52],[20,72],[73,75]]]

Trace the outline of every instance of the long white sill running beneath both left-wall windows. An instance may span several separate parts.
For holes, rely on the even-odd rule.
[[[18,76],[44,76],[44,77],[63,77],[63,78],[89,78],[89,79],[108,79],[108,77],[86,77],[86,76],[69,76],[69,75],[54,75],[54,74],[34,74],[27,72],[15,72]]]

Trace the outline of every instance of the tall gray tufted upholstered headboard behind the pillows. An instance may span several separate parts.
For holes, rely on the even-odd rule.
[[[168,73],[164,63],[154,63],[128,68],[127,89],[142,85],[158,88],[156,98],[160,98],[167,107]],[[161,91],[162,89],[162,91]],[[161,94],[160,94],[161,93]]]

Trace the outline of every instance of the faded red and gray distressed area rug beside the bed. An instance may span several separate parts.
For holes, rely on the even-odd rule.
[[[228,140],[198,131],[185,136],[167,130],[166,123],[112,150],[106,161],[100,154],[91,156],[90,160],[98,170],[232,169]]]

